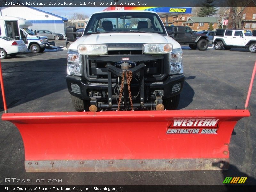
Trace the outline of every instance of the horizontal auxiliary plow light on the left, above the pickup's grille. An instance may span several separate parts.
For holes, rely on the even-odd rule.
[[[108,53],[107,45],[78,45],[78,53],[81,55],[106,55]]]

